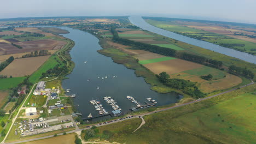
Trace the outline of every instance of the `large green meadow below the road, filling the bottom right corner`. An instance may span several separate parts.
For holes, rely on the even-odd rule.
[[[137,127],[133,120],[99,127],[101,140],[120,143],[254,143],[255,85],[174,110],[144,116]],[[246,112],[246,113],[245,113]],[[98,138],[97,138],[98,139]]]

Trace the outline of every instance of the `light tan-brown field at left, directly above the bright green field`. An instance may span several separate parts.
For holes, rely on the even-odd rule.
[[[28,57],[14,59],[0,75],[12,75],[13,77],[31,75],[36,71],[50,56]]]

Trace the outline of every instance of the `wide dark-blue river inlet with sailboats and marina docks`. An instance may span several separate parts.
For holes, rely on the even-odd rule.
[[[134,97],[141,104],[144,104],[146,98],[155,99],[158,105],[171,104],[177,100],[178,93],[154,92],[150,90],[150,85],[144,81],[143,77],[135,75],[134,70],[114,63],[110,57],[98,53],[97,50],[102,47],[94,35],[78,29],[59,28],[69,31],[70,33],[63,36],[75,41],[75,46],[70,52],[75,67],[72,73],[67,75],[69,79],[62,81],[62,87],[71,89],[68,95],[77,95],[74,103],[79,105],[77,108],[83,113],[83,117],[86,118],[90,113],[92,116],[98,116],[94,106],[89,103],[90,100],[95,99],[101,101],[107,112],[111,112],[112,107],[103,100],[103,97],[112,97],[125,113],[129,112],[131,107],[135,107],[130,100],[126,99],[127,95]]]

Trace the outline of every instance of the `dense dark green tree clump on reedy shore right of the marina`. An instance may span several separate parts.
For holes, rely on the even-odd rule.
[[[166,72],[162,72],[159,75],[156,75],[156,77],[158,77],[158,80],[164,83],[164,85],[175,89],[180,89],[183,93],[191,95],[191,97],[205,97],[205,94],[198,89],[195,82],[183,79],[170,79],[170,75],[168,75]]]

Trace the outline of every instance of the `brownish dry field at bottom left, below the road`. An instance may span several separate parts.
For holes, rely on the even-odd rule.
[[[74,144],[74,141],[75,141],[75,135],[74,135],[74,133],[72,133],[72,134],[67,134],[67,135],[55,136],[55,137],[51,137],[51,138],[43,139],[43,140],[26,142],[23,144],[39,144],[39,143],[40,144],[49,144],[49,143]]]

